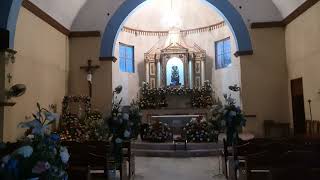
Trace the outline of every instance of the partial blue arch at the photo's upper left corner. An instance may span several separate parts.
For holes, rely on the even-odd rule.
[[[14,46],[14,35],[22,0],[0,1],[0,28],[9,31],[9,44],[7,48]]]

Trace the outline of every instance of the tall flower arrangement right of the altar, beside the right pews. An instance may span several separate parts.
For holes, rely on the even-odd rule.
[[[222,119],[227,132],[227,143],[234,145],[239,141],[239,130],[246,125],[246,118],[231,95],[225,94],[224,98],[226,105],[223,107]]]

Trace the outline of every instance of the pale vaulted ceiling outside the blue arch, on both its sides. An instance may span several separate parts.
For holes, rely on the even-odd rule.
[[[125,0],[30,1],[72,31],[104,31],[112,14]],[[251,22],[280,21],[306,0],[229,1],[238,9],[249,25]]]

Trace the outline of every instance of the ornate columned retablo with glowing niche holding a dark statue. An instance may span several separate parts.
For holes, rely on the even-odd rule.
[[[146,81],[151,88],[201,87],[205,82],[206,51],[186,43],[179,29],[169,31],[165,42],[144,56]]]

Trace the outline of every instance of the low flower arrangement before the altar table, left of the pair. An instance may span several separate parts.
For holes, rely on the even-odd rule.
[[[150,142],[167,142],[172,139],[172,132],[168,124],[157,120],[148,128],[144,129],[144,139]]]

